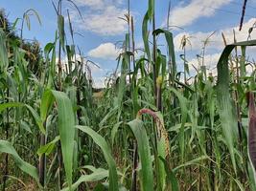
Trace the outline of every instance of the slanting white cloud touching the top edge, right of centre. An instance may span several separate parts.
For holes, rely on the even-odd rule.
[[[227,5],[232,0],[192,0],[190,4],[180,4],[170,15],[170,25],[185,27],[191,25],[194,21],[201,17],[209,17],[214,15],[215,9]]]

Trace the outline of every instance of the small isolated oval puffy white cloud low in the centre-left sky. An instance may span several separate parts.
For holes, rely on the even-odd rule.
[[[89,51],[88,55],[95,58],[115,59],[119,54],[113,43],[104,43]]]

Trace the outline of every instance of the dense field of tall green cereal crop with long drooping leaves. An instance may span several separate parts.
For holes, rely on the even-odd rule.
[[[116,70],[99,89],[90,68],[99,66],[77,48],[63,2],[53,2],[56,36],[44,47],[23,33],[32,15],[41,22],[37,11],[16,20],[0,11],[1,190],[256,190],[256,65],[247,59],[256,40],[234,33],[227,44],[222,33],[217,72],[202,61],[192,74],[189,39],[178,55],[172,30],[155,25],[158,1],[149,0],[143,48],[128,10]]]

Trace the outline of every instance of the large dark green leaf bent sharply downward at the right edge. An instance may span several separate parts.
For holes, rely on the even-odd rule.
[[[221,53],[220,60],[217,65],[217,101],[218,111],[221,119],[222,133],[225,138],[230,157],[233,163],[234,171],[237,173],[237,165],[234,154],[234,140],[236,139],[238,123],[235,111],[235,103],[229,94],[229,69],[228,57],[232,50],[237,46],[255,46],[256,40],[234,43],[225,47]],[[243,48],[244,49],[244,48]]]

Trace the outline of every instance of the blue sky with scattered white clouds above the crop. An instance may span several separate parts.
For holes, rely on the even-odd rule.
[[[57,2],[56,0],[54,0]],[[78,12],[69,3],[63,3],[63,14],[69,9],[74,29],[81,35],[76,35],[75,43],[81,48],[84,56],[98,63],[101,69],[92,67],[96,86],[103,86],[104,76],[110,74],[116,67],[115,57],[118,50],[114,44],[122,41],[127,32],[127,24],[118,17],[124,17],[127,13],[128,0],[74,0],[81,10],[83,20]],[[156,2],[156,26],[166,27],[169,0],[155,0]],[[242,0],[172,0],[170,17],[171,26],[175,36],[175,50],[177,60],[181,65],[178,55],[182,36],[190,36],[191,46],[187,47],[187,59],[190,66],[198,66],[197,54],[201,53],[202,41],[212,32],[205,53],[205,62],[209,70],[214,69],[220,57],[223,43],[221,32],[224,32],[227,41],[232,42],[233,29],[238,40],[246,40],[248,28],[256,22],[256,0],[248,0],[244,17],[244,29],[238,32],[242,11]],[[141,23],[147,11],[148,0],[130,0],[130,9],[135,19],[136,46],[142,47]],[[56,12],[50,0],[1,0],[0,8],[5,9],[10,21],[22,17],[23,12],[35,9],[40,15],[40,26],[35,17],[32,17],[32,28],[24,29],[24,38],[36,38],[43,47],[47,42],[55,38],[57,29]],[[18,25],[20,28],[20,25]],[[18,31],[17,31],[18,32]],[[68,33],[68,29],[66,30]],[[252,32],[252,38],[256,33]],[[159,44],[163,44],[159,39]],[[182,70],[182,67],[179,67]]]

